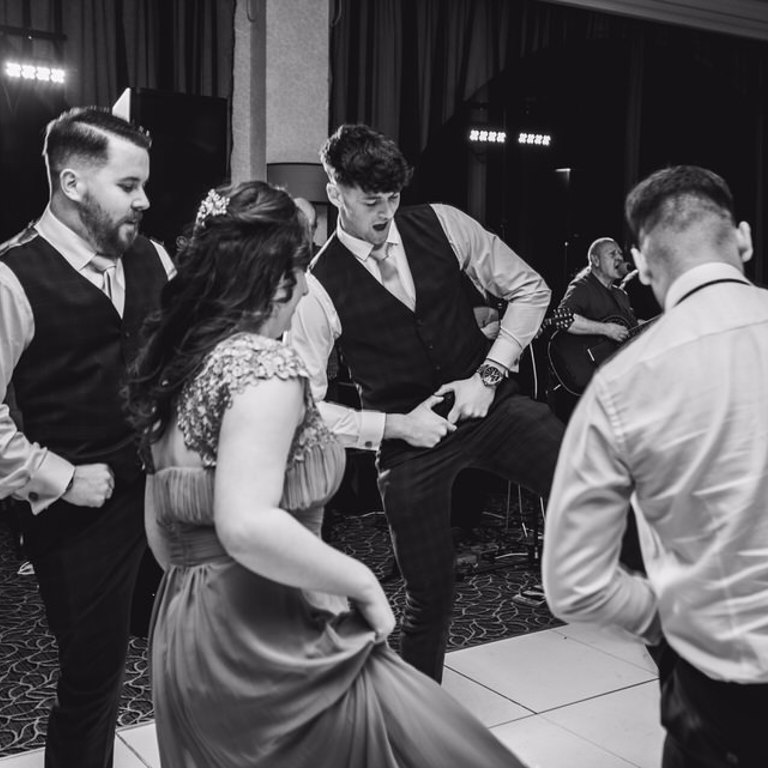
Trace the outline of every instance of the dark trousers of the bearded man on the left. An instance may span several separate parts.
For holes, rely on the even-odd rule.
[[[110,768],[142,556],[144,476],[98,509],[64,501],[27,517],[24,543],[59,652],[46,768]]]

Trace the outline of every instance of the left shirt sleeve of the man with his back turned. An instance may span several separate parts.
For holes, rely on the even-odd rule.
[[[610,398],[595,377],[560,448],[547,506],[544,589],[564,621],[614,624],[656,642],[654,592],[645,577],[619,565],[633,486],[610,413]]]

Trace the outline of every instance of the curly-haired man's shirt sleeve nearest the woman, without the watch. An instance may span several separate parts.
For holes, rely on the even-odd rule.
[[[330,297],[319,281],[307,275],[309,292],[299,301],[286,334],[304,360],[310,375],[312,396],[323,421],[346,448],[376,450],[384,436],[386,415],[380,411],[356,410],[325,399],[328,392],[328,359],[341,323]]]

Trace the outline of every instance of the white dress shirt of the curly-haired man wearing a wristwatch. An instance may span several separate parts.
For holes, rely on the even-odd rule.
[[[549,306],[550,290],[543,278],[496,235],[477,221],[448,205],[432,205],[460,268],[480,289],[511,302],[504,314],[499,335],[488,357],[510,370],[517,370],[520,354],[536,335]],[[339,223],[336,235],[379,282],[376,260],[370,257],[373,245],[345,232]],[[389,259],[397,265],[406,293],[415,298],[416,289],[408,258],[396,223],[389,234]],[[342,327],[330,296],[311,274],[309,293],[299,302],[288,334],[289,342],[307,364],[312,394],[323,418],[347,447],[376,449],[384,434],[386,414],[357,411],[338,403],[325,402],[328,389],[328,358]]]

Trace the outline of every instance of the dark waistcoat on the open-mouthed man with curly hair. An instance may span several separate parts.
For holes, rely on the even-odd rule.
[[[416,287],[412,312],[334,235],[312,274],[341,320],[341,353],[364,408],[406,413],[448,381],[468,378],[489,342],[467,299],[456,255],[434,210],[395,217]]]

